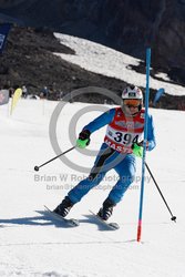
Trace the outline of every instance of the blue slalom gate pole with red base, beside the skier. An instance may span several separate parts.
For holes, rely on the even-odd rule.
[[[146,142],[147,142],[147,117],[148,117],[148,101],[150,101],[150,68],[151,68],[151,49],[147,48],[146,49],[146,91],[145,91],[144,143],[143,143],[143,158],[142,158],[142,183],[141,183],[141,195],[140,195],[137,242],[141,242],[141,235],[142,235],[145,158],[146,158]]]

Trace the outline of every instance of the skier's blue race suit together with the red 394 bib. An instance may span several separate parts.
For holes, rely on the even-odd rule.
[[[91,133],[93,133],[104,125],[107,125],[107,132],[89,177],[81,181],[74,188],[69,192],[68,196],[70,197],[72,203],[75,204],[80,202],[82,197],[89,193],[90,189],[99,185],[105,174],[112,168],[115,170],[120,178],[111,189],[109,198],[114,204],[117,204],[122,199],[125,191],[133,183],[133,179],[135,177],[135,155],[132,153],[131,146],[133,142],[136,142],[134,140],[138,138],[138,134],[143,134],[143,114],[144,110],[138,113],[138,120],[134,120],[135,122],[133,122],[132,119],[132,122],[126,122],[127,119],[125,117],[121,107],[115,107],[103,113],[86,126],[84,126],[83,130],[89,130]],[[129,125],[129,127],[126,127],[126,124]],[[134,129],[132,127],[132,125],[134,126]],[[130,133],[134,136],[131,136]],[[123,136],[122,138],[124,140],[120,138],[121,136]],[[120,144],[121,140],[123,141],[122,145]],[[147,121],[147,150],[153,150],[156,143],[152,115],[148,115]],[[129,146],[125,147],[125,144],[127,144]]]

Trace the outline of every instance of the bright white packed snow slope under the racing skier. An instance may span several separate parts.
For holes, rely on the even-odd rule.
[[[120,224],[119,230],[106,230],[89,213],[89,209],[96,212],[100,208],[115,184],[117,176],[113,171],[71,211],[70,217],[80,220],[79,227],[66,227],[44,214],[43,205],[54,208],[70,187],[86,176],[60,160],[39,172],[33,171],[35,165],[55,156],[49,126],[56,105],[58,102],[20,100],[12,116],[8,105],[0,106],[0,276],[184,277],[185,113],[150,110],[155,121],[157,146],[147,153],[147,164],[177,222],[171,220],[146,172],[142,242],[137,243],[140,160],[136,179],[111,218]],[[61,151],[72,146],[69,126],[73,116],[84,107],[90,105],[66,103],[61,111],[56,124]],[[78,134],[101,112],[102,106],[100,111],[83,113],[73,132]],[[92,135],[89,150],[99,150],[104,131]],[[66,156],[89,168],[94,161],[94,156],[76,150]]]

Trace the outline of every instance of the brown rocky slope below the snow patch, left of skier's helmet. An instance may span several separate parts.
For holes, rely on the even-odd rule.
[[[53,55],[53,52],[74,54],[50,30],[12,28],[6,51],[0,57],[0,85],[27,85],[29,93],[33,94],[40,94],[48,86],[49,98],[53,100],[60,92],[69,93],[82,86],[103,86],[120,93],[125,86],[121,80],[88,72]],[[101,99],[89,101],[101,102]]]

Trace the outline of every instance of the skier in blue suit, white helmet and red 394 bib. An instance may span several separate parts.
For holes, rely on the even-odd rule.
[[[84,148],[90,144],[90,135],[107,125],[104,142],[95,158],[88,178],[73,187],[54,213],[65,217],[71,207],[80,202],[90,189],[99,185],[110,170],[115,170],[120,179],[113,186],[97,215],[107,220],[113,207],[121,202],[124,193],[133,183],[136,165],[135,156],[142,156],[144,133],[143,93],[137,86],[127,86],[122,93],[121,106],[109,110],[89,123],[79,135],[76,146]],[[148,115],[146,150],[155,147],[153,117]]]

